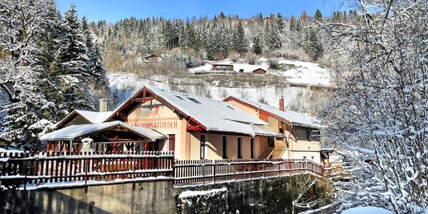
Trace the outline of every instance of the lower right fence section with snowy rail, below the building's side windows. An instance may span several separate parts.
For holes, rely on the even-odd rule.
[[[306,159],[175,161],[175,185],[211,184],[281,175],[312,174],[330,178],[337,168]]]

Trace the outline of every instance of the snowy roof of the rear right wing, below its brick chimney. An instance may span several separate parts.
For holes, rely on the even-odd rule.
[[[322,126],[320,125],[320,121],[318,121],[317,119],[312,118],[310,116],[307,116],[305,114],[302,114],[302,113],[298,113],[298,112],[290,111],[290,110],[281,111],[278,108],[274,108],[274,107],[269,106],[269,105],[264,104],[264,103],[248,101],[246,99],[238,98],[235,96],[229,96],[228,98],[225,98],[224,101],[229,101],[231,99],[235,99],[237,101],[247,103],[248,105],[253,106],[253,108],[263,109],[264,111],[272,113],[275,116],[278,116],[280,118],[284,118],[286,121],[289,121],[294,126],[305,126],[305,127],[317,128],[317,129],[322,128]]]

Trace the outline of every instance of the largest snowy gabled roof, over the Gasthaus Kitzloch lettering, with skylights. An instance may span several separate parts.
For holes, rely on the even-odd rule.
[[[122,109],[132,109],[133,106],[128,107],[128,105],[131,105],[133,100],[141,96],[141,94],[147,92],[156,96],[158,100],[164,101],[165,104],[169,104],[175,111],[183,114],[183,116],[193,118],[203,125],[206,131],[255,136],[256,133],[251,126],[252,124],[268,125],[265,121],[250,116],[231,103],[215,101],[200,96],[190,96],[185,93],[156,88],[155,86],[143,86],[140,91],[116,108],[110,118],[113,118]]]

